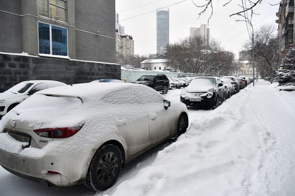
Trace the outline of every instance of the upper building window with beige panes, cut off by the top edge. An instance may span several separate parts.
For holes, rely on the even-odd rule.
[[[39,16],[48,18],[59,17],[59,21],[66,22],[66,0],[39,0]]]

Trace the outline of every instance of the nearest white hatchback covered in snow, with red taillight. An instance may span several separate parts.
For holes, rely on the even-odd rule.
[[[2,118],[0,165],[48,186],[85,184],[102,191],[123,165],[187,127],[186,106],[146,85],[50,88]]]

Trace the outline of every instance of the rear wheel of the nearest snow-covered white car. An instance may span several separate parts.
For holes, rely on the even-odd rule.
[[[122,168],[122,155],[116,145],[104,145],[94,154],[89,165],[85,186],[104,191],[117,181]]]

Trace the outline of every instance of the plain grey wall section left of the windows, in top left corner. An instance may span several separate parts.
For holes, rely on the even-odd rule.
[[[21,15],[21,0],[1,0],[0,10]],[[23,52],[22,19],[20,16],[0,12],[0,52]]]

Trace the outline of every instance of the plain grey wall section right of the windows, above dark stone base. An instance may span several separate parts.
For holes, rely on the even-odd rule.
[[[76,0],[76,28],[115,38],[115,0]],[[116,40],[76,30],[79,60],[116,61]]]

